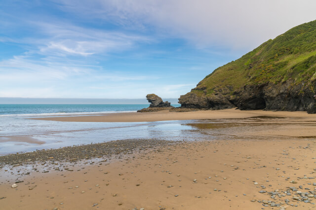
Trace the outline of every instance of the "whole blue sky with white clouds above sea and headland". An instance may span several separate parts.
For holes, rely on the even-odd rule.
[[[0,97],[178,98],[315,0],[1,0]]]

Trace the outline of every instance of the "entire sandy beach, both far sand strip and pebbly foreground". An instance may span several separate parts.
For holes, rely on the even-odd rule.
[[[196,128],[194,132],[216,130],[223,138],[137,142],[131,137],[125,141],[0,156],[3,209],[315,207],[315,115],[229,109],[39,120],[200,120],[187,124]],[[12,188],[15,182],[18,186]]]

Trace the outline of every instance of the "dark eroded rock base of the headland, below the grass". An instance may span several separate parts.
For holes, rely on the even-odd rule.
[[[247,85],[225,95],[220,91],[207,96],[189,92],[180,96],[179,103],[183,108],[218,110],[237,107],[240,110],[307,111],[316,114],[316,94],[313,91],[316,83],[304,87],[303,84],[293,86],[292,82],[290,79],[281,84]],[[310,87],[313,87],[312,90]]]

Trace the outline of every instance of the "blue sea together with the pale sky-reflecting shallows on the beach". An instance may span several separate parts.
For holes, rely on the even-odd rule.
[[[173,106],[179,106],[174,104]],[[0,155],[124,139],[195,140],[192,120],[157,122],[61,122],[47,116],[136,112],[148,104],[0,104]]]

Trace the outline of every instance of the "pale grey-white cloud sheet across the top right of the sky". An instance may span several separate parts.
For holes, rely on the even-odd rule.
[[[55,1],[65,11],[88,19],[127,28],[154,28],[157,34],[185,38],[198,48],[249,49],[316,19],[315,0]]]

